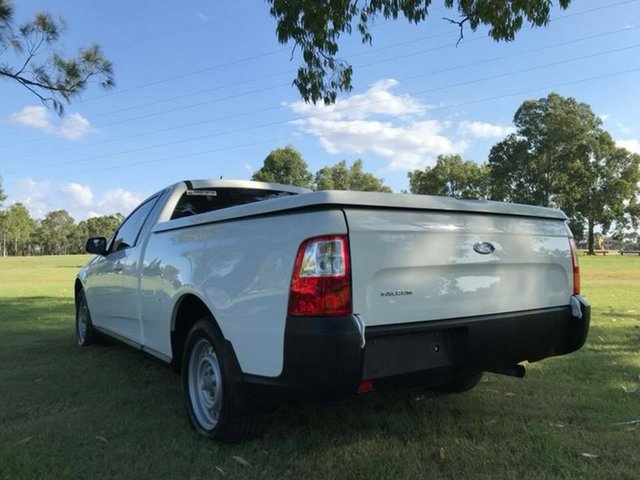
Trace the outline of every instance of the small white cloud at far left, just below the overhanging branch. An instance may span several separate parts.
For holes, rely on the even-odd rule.
[[[35,128],[48,135],[62,137],[67,140],[79,140],[95,129],[89,120],[79,113],[71,113],[58,119],[45,107],[30,105],[9,116],[9,121],[15,125]]]

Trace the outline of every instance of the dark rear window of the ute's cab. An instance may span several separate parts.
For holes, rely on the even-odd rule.
[[[256,188],[188,189],[178,200],[171,220],[289,195],[295,195],[295,193]]]

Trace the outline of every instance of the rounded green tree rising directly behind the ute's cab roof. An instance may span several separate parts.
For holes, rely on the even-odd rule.
[[[262,168],[255,172],[251,179],[259,182],[311,188],[313,175],[300,152],[292,145],[287,145],[284,148],[273,150],[267,155]]]

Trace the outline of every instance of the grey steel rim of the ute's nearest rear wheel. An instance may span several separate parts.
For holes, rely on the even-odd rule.
[[[209,340],[202,338],[191,349],[188,374],[193,414],[202,428],[213,430],[222,410],[222,371]]]

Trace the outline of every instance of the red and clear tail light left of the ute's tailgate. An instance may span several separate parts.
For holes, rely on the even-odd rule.
[[[298,250],[289,292],[289,315],[351,313],[351,272],[346,235],[305,240]]]

